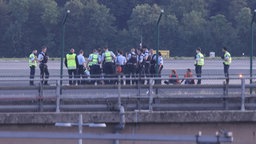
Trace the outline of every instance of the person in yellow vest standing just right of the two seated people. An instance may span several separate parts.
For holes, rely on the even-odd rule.
[[[195,71],[198,78],[197,84],[201,84],[202,67],[204,65],[204,55],[201,53],[201,48],[196,49],[195,56]]]

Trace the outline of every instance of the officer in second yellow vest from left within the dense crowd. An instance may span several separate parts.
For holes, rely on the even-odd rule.
[[[101,74],[100,69],[101,57],[96,49],[93,49],[92,53],[89,55],[88,64],[90,65],[90,75],[91,78],[99,78]],[[92,81],[95,83],[95,81]]]

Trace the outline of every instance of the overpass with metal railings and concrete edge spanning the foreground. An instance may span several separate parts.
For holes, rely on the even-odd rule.
[[[59,79],[55,71],[50,86],[40,85],[38,78],[36,86],[29,86],[28,77],[19,76],[26,73],[22,69],[19,74],[12,71],[12,76],[2,74],[1,142],[71,144],[83,139],[106,144],[194,144],[231,142],[234,137],[234,144],[254,144],[256,85],[249,83],[247,71],[242,69],[244,75],[238,77],[240,71],[231,69],[229,85],[222,75],[211,74],[209,68],[205,71],[202,85],[154,83],[168,79],[163,76],[147,79],[147,84],[124,85],[119,78],[116,85],[68,86],[68,79]],[[83,123],[106,123],[107,127],[85,128],[78,134],[77,127],[54,126],[78,123],[80,115]],[[226,137],[229,131],[232,137]],[[155,141],[160,138],[165,141]]]

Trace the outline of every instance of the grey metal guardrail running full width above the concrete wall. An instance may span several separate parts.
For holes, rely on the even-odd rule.
[[[211,79],[223,80],[223,78],[207,78],[207,80]],[[12,79],[8,81],[27,82],[28,80]],[[145,80],[149,83],[146,85],[142,83],[124,85],[122,81],[138,79],[121,78],[120,76],[104,79],[115,80],[117,82],[115,85],[61,85],[61,81],[68,80],[50,79],[49,81],[52,82],[50,86],[41,85],[39,80],[36,80],[39,82],[37,86],[26,86],[24,84],[0,85],[0,91],[6,92],[6,94],[0,95],[2,101],[0,102],[0,111],[115,111],[119,110],[121,105],[124,106],[126,111],[145,109],[149,111],[221,109],[240,109],[244,111],[246,109],[256,109],[256,97],[249,93],[249,89],[254,89],[256,84],[246,84],[246,81],[250,78],[245,77],[234,79],[241,81],[240,84],[229,85],[225,83],[162,85],[156,82],[167,80],[166,78],[141,78],[140,81]],[[91,78],[90,81],[102,81],[102,78]],[[9,91],[13,93],[10,94]],[[23,94],[23,91],[26,93]],[[32,95],[31,92],[33,92]],[[100,96],[95,96],[96,93],[100,92]],[[111,96],[106,96],[107,94]]]

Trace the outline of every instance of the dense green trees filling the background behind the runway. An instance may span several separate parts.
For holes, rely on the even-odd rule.
[[[214,51],[218,56],[226,46],[233,56],[248,56],[255,8],[252,0],[0,0],[0,57],[26,57],[42,45],[59,57],[68,9],[66,52],[73,47],[88,56],[105,46],[129,51],[141,40],[155,48],[156,22],[164,9],[160,49],[192,56],[201,47],[206,55]]]

